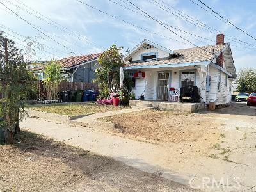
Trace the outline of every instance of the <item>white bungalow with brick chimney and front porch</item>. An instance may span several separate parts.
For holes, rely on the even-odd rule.
[[[236,79],[230,44],[224,43],[223,34],[217,35],[216,45],[175,51],[143,40],[125,55],[124,70],[136,77],[132,90],[136,99],[144,95],[145,100],[168,100],[171,88],[189,84],[197,86],[201,102],[227,104]]]

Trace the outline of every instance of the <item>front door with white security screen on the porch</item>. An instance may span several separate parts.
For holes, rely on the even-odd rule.
[[[169,72],[157,72],[157,100],[168,100]]]

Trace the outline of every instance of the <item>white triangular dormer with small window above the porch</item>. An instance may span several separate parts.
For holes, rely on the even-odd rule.
[[[130,63],[168,60],[173,56],[180,56],[176,52],[149,40],[143,40],[125,55],[124,60]]]

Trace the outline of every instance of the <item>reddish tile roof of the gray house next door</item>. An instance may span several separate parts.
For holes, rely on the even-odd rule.
[[[63,68],[69,68],[84,63],[86,61],[97,59],[99,58],[100,54],[101,53],[88,54],[82,56],[72,56],[69,58],[63,58],[61,60],[58,60],[58,62],[63,66]]]

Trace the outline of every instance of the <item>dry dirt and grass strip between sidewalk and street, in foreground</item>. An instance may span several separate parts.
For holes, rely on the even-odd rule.
[[[39,134],[22,131],[17,141],[0,145],[0,191],[191,191]]]

